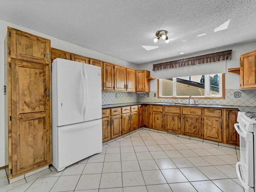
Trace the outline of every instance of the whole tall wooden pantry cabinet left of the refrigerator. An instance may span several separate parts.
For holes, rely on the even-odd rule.
[[[8,27],[9,179],[51,163],[50,40]]]

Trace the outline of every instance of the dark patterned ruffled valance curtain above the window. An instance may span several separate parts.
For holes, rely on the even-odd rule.
[[[200,55],[196,57],[189,57],[185,59],[167,61],[164,63],[157,63],[153,65],[153,70],[162,70],[176,67],[183,67],[188,65],[197,65],[202,63],[210,63],[216,61],[224,61],[231,59],[232,50],[226,50],[222,52],[210,53],[206,55]]]

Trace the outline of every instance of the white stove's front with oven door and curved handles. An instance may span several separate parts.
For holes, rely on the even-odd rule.
[[[254,191],[253,133],[246,132],[239,124],[234,124],[234,128],[240,135],[240,161],[236,164],[238,179],[246,191]]]

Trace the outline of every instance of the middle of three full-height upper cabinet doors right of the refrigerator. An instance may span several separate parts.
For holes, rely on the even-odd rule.
[[[126,70],[125,67],[118,65],[114,66],[115,68],[115,90],[125,91],[126,90]]]

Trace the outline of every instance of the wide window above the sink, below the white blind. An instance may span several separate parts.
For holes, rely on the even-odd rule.
[[[225,74],[158,79],[159,98],[224,98]]]

